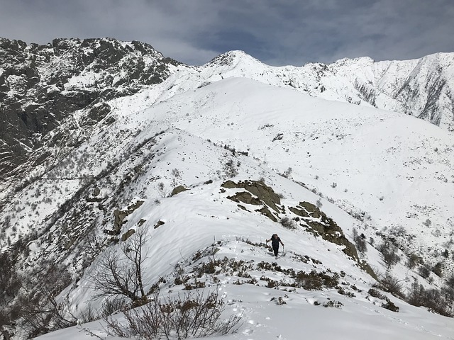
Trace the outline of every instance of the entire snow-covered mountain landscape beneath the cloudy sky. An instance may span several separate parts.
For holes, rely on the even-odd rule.
[[[238,339],[297,339],[292,310],[450,339],[453,319],[396,296],[453,314],[453,54],[192,67],[140,42],[2,39],[0,56],[2,331],[61,327],[52,301],[65,325],[99,312],[93,273],[144,230],[145,290],[222,289],[247,320]],[[287,254],[259,264],[274,232]],[[203,263],[216,275],[196,278]],[[312,291],[297,276],[312,270],[336,284]],[[282,326],[259,312],[272,297]],[[326,332],[364,334],[340,323]]]

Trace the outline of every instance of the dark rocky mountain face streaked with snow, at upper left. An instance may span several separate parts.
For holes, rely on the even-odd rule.
[[[72,129],[89,130],[111,110],[106,101],[160,83],[179,63],[143,42],[55,39],[26,45],[0,39],[0,179],[18,174],[29,158],[40,164],[67,131],[48,133],[75,111],[84,117]]]

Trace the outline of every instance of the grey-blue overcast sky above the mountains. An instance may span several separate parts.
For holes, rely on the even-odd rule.
[[[0,0],[0,37],[140,40],[187,64],[406,60],[454,52],[454,0]]]

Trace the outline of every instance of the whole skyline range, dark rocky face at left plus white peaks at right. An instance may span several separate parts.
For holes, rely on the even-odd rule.
[[[111,110],[112,98],[159,84],[171,74],[191,73],[201,84],[245,77],[310,96],[373,106],[454,129],[454,55],[437,53],[419,60],[374,62],[362,57],[333,64],[271,67],[233,51],[201,67],[163,57],[148,44],[114,39],[55,39],[26,45],[0,39],[0,178],[18,171],[26,159],[41,162],[36,151],[48,132],[72,113],[87,109],[89,128]]]

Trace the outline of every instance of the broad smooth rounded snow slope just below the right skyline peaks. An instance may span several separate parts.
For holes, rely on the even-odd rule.
[[[241,78],[138,115],[248,152],[281,174],[292,168],[290,178],[359,216],[362,228],[372,227],[370,236],[404,227],[414,235],[406,242],[412,251],[429,256],[446,249],[454,222],[454,137],[423,120]]]

